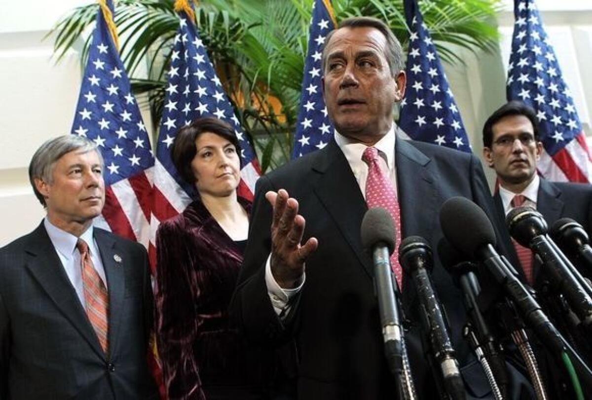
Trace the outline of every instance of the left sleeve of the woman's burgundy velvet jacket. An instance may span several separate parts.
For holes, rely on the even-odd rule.
[[[200,366],[193,344],[201,318],[195,309],[199,288],[193,288],[189,260],[178,241],[178,227],[169,222],[156,233],[156,334],[169,400],[205,400]]]

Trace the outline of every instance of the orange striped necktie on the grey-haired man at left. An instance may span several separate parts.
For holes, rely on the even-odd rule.
[[[95,330],[103,351],[107,353],[109,348],[109,295],[107,288],[92,264],[91,254],[88,251],[88,244],[79,238],[76,243],[76,249],[80,251],[86,315]]]

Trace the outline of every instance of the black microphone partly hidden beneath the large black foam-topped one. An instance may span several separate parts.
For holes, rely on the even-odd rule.
[[[438,255],[440,256],[440,262],[442,262],[442,265],[452,276],[456,287],[461,288],[462,293],[464,294],[466,312],[471,320],[471,323],[467,324],[467,326],[471,325],[472,328],[465,327],[463,334],[465,338],[469,340],[469,344],[471,344],[475,353],[477,353],[478,350],[474,345],[478,344],[478,347],[480,347],[481,345],[479,343],[482,343],[484,348],[482,358],[484,358],[485,362],[488,363],[488,366],[491,367],[491,372],[493,372],[493,375],[497,380],[497,382],[490,380],[490,384],[492,388],[498,385],[498,390],[500,391],[501,396],[505,398],[506,386],[508,383],[506,364],[503,356],[498,351],[496,340],[491,333],[487,322],[485,322],[485,318],[481,314],[478,302],[478,296],[481,293],[481,285],[475,275],[477,265],[473,262],[466,261],[467,257],[463,256],[458,251],[455,251],[444,238],[438,243]],[[477,356],[482,363],[481,356],[479,354],[477,354]],[[482,364],[485,369],[484,363]],[[485,369],[485,373],[489,379],[490,376],[487,369]]]

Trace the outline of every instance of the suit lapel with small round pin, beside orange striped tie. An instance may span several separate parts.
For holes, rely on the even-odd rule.
[[[126,293],[126,264],[131,260],[127,254],[118,251],[115,237],[95,228],[95,240],[101,252],[105,276],[109,291],[109,348],[113,353],[117,349],[117,338],[121,326],[121,314]]]

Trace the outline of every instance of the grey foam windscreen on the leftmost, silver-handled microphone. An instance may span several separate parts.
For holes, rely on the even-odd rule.
[[[366,211],[360,228],[362,246],[372,251],[378,243],[388,247],[388,253],[395,250],[395,225],[390,212],[382,207],[374,207]]]

